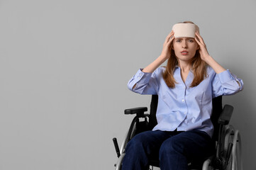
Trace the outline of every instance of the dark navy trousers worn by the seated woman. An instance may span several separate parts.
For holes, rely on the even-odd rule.
[[[185,170],[191,160],[204,159],[214,149],[211,137],[199,130],[141,132],[128,142],[122,169],[145,170],[149,159],[158,157],[161,170]]]

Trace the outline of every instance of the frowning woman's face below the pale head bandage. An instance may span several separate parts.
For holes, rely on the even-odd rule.
[[[199,45],[194,38],[175,38],[172,49],[178,60],[189,62],[195,56],[196,50],[199,50]]]

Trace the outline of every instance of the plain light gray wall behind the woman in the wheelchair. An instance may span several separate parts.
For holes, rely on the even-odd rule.
[[[133,116],[150,96],[128,79],[162,51],[172,25],[194,21],[208,52],[245,89],[224,102],[255,165],[256,2],[0,1],[0,169],[113,169]]]

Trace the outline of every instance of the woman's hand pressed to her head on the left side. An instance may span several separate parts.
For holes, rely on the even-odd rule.
[[[162,53],[161,57],[163,57],[165,60],[169,59],[171,56],[171,47],[172,47],[172,41],[174,40],[174,31],[172,30],[169,35],[165,38],[164,45],[162,47]]]

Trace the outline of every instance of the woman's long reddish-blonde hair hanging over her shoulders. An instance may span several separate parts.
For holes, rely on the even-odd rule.
[[[193,23],[191,21],[184,21],[182,23]],[[194,24],[194,23],[193,23]],[[177,84],[177,81],[175,81],[173,74],[175,68],[179,65],[177,57],[175,55],[174,50],[172,49],[172,46],[170,47],[171,50],[171,56],[169,57],[169,60],[167,62],[167,66],[165,69],[165,72],[162,73],[162,77],[165,79],[165,83],[170,88],[174,88],[175,84]],[[199,50],[196,50],[195,56],[191,59],[192,64],[192,72],[194,73],[194,79],[190,84],[190,87],[197,86],[203,81],[206,77],[206,62],[201,60],[201,56],[199,53]]]

